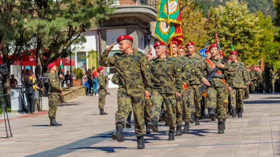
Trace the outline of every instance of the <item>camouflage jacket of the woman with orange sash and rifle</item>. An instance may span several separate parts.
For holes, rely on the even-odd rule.
[[[220,63],[222,60],[221,59],[214,59],[214,58],[210,58],[209,60],[211,60],[211,62],[214,64],[214,66],[217,65],[217,63]],[[207,75],[210,74],[210,72],[213,70],[213,68],[206,62],[206,59],[204,59],[203,61],[204,63],[204,69],[203,71],[205,71],[203,74],[202,73],[199,73],[199,72],[196,72],[196,75],[199,77],[200,80],[202,80],[202,78],[206,77]],[[219,72],[221,74],[224,74],[225,71],[227,72],[234,72],[235,70],[235,67],[233,65],[231,65],[230,62],[225,62],[224,64],[224,68],[223,69],[219,69]],[[213,82],[214,82],[214,86],[215,87],[223,87],[225,84],[223,83],[222,79],[220,78],[212,78]],[[211,83],[210,83],[210,86]]]

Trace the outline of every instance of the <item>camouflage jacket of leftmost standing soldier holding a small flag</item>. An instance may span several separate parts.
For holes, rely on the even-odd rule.
[[[64,76],[63,76],[64,80]],[[48,83],[49,83],[49,92],[48,94],[60,94],[60,79],[59,76],[53,72],[50,72],[48,75]]]

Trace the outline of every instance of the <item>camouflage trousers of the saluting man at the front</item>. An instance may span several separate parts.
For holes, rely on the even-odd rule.
[[[144,126],[144,107],[145,107],[145,94],[132,93],[126,94],[118,92],[118,111],[116,112],[116,125],[125,127],[125,122],[129,111],[133,110],[134,117],[134,131],[136,136],[141,136],[145,133]]]

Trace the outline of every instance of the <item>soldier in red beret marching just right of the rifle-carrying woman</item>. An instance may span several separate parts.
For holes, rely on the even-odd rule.
[[[237,51],[230,52],[230,59],[232,60],[231,65],[235,66],[235,76],[230,76],[232,84],[230,84],[229,87],[232,117],[236,117],[236,111],[238,113],[238,117],[242,117],[244,89],[248,86],[246,68],[243,63],[237,60],[237,57]]]

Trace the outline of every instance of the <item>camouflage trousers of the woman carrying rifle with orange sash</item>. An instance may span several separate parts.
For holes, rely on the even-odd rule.
[[[207,89],[207,97],[209,99],[209,108],[216,107],[217,110],[217,119],[225,120],[226,119],[226,103],[225,99],[227,99],[227,90],[225,86],[223,87],[215,87],[211,86]]]

